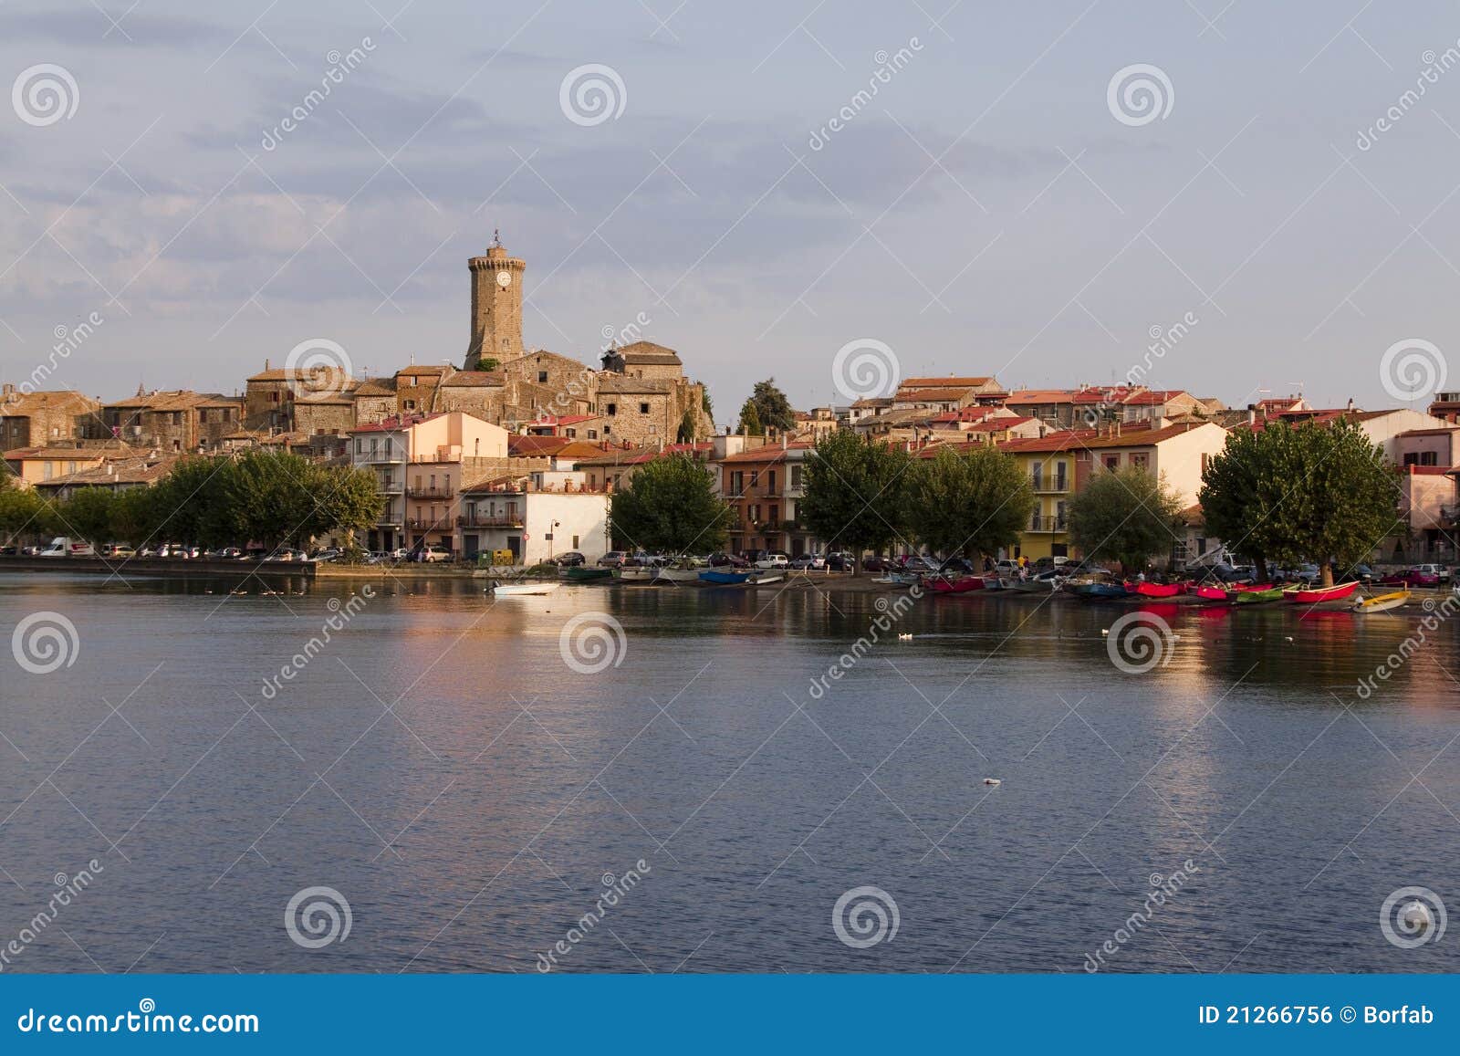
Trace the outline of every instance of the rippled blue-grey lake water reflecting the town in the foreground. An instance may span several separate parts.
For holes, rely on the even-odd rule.
[[[0,949],[101,866],[4,970],[1460,970],[1380,926],[1460,910],[1460,621],[1361,698],[1413,615],[480,587],[0,575],[76,630],[0,653]]]

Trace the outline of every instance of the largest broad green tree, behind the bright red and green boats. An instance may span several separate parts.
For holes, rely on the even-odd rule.
[[[1315,561],[1332,586],[1403,523],[1394,467],[1358,425],[1273,424],[1234,434],[1203,475],[1207,529],[1232,549],[1267,559]]]

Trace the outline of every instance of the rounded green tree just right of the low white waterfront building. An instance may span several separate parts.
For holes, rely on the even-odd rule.
[[[666,554],[723,546],[730,517],[711,472],[688,454],[641,466],[609,508],[615,537]]]

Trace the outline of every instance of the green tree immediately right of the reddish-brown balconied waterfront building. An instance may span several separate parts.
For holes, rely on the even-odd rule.
[[[901,447],[847,429],[826,434],[804,463],[800,520],[828,548],[840,543],[854,558],[889,548],[904,529],[910,457]]]

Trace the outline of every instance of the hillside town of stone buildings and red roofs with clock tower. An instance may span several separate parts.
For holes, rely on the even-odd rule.
[[[610,529],[615,491],[642,466],[683,456],[705,466],[730,508],[731,554],[794,559],[828,549],[799,511],[806,462],[818,441],[848,431],[918,459],[981,447],[1012,456],[1035,495],[1007,548],[1013,559],[1080,556],[1072,500],[1099,470],[1146,470],[1180,502],[1186,537],[1169,558],[1181,565],[1221,546],[1197,495],[1229,435],[1346,422],[1383,450],[1397,478],[1400,523],[1375,546],[1377,559],[1454,559],[1460,391],[1437,393],[1426,410],[1352,400],[1315,408],[1301,393],[1229,408],[1145,384],[1006,389],[990,375],[950,374],[901,378],[888,394],[790,410],[783,421],[742,413],[717,426],[680,355],[638,326],[594,364],[526,346],[526,269],[499,240],[469,260],[460,367],[412,362],[356,377],[343,356],[328,359],[339,346],[307,342],[292,362],[264,359],[232,396],[139,387],[104,400],[6,383],[4,469],[12,485],[66,501],[89,488],[147,488],[188,456],[286,451],[372,475],[383,513],[361,540],[371,552],[533,565],[565,551],[593,562],[623,545]]]

